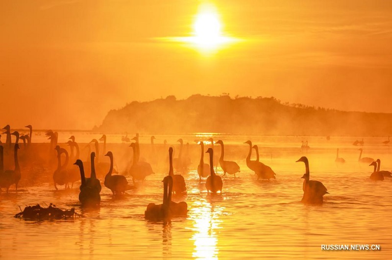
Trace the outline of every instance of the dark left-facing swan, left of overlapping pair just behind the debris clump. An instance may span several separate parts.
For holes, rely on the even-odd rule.
[[[99,191],[93,187],[90,187],[87,185],[86,178],[84,176],[84,168],[83,168],[83,162],[81,160],[76,160],[74,165],[79,166],[80,170],[80,180],[81,180],[81,185],[79,187],[80,192],[79,192],[79,201],[82,204],[82,206],[89,206],[89,207],[94,207],[99,205],[101,201],[101,196],[99,195]]]

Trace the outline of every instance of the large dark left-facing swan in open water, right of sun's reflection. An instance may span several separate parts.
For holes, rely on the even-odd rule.
[[[302,190],[303,190],[303,197],[302,202],[304,203],[312,203],[312,204],[319,204],[323,201],[323,196],[325,194],[329,194],[327,188],[319,182],[319,181],[311,181],[310,173],[309,173],[309,161],[308,158],[302,156],[296,162],[303,162],[305,163],[305,174],[301,177],[304,179]]]

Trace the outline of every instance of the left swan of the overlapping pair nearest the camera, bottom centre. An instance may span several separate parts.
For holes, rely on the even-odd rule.
[[[144,212],[145,218],[148,220],[169,220],[170,219],[170,198],[172,194],[172,190],[169,187],[172,187],[170,183],[173,183],[172,176],[165,176],[163,178],[163,202],[162,204],[156,205],[154,203],[149,203],[147,205],[147,209]],[[169,188],[169,189],[168,189]]]

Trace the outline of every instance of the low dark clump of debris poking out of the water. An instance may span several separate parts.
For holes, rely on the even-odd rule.
[[[68,219],[76,216],[75,209],[61,210],[55,205],[51,204],[48,208],[42,208],[39,204],[35,206],[27,206],[23,210],[16,214],[15,218],[24,218],[28,220],[55,220],[55,219]]]

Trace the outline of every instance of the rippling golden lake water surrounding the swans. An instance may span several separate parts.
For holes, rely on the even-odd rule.
[[[73,133],[81,147],[81,158],[87,158],[86,142],[101,135]],[[69,149],[69,132],[59,133],[59,143]],[[33,145],[42,144],[44,134],[33,135]],[[133,136],[133,135],[132,135]],[[149,135],[140,135],[141,160],[149,161]],[[382,182],[369,180],[372,167],[358,164],[360,146],[355,138],[230,136],[213,135],[214,141],[225,143],[225,160],[241,167],[237,178],[222,176],[222,194],[207,194],[205,179],[199,182],[197,164],[200,146],[195,140],[206,141],[211,134],[156,135],[158,165],[155,174],[147,176],[137,189],[114,198],[102,187],[99,209],[83,209],[78,201],[79,182],[73,189],[54,190],[49,169],[32,169],[21,165],[22,179],[15,192],[0,194],[0,256],[25,259],[99,258],[99,259],[389,259],[392,255],[392,211],[390,199],[392,179]],[[178,155],[181,137],[189,142],[189,171],[181,173],[187,184],[187,194],[173,196],[174,201],[188,204],[188,216],[176,217],[168,225],[145,220],[147,204],[162,203],[162,179],[168,174],[167,149]],[[42,138],[42,140],[41,140]],[[163,140],[167,140],[167,146]],[[276,180],[256,180],[245,164],[252,140],[260,150],[260,161],[276,172]],[[308,152],[301,151],[301,141],[308,141]],[[381,142],[385,138],[365,138],[363,157],[381,159],[381,169],[391,170],[391,148]],[[122,135],[107,135],[107,150],[113,152],[115,165],[124,174],[132,156],[129,143]],[[102,144],[100,144],[102,147]],[[206,147],[209,147],[206,142]],[[93,146],[92,146],[93,147]],[[336,148],[345,164],[336,164]],[[93,149],[93,148],[92,148]],[[215,146],[220,154],[220,147]],[[295,163],[306,155],[310,164],[310,179],[321,181],[330,194],[322,205],[300,203],[303,163]],[[8,155],[7,155],[8,156]],[[162,159],[162,160],[161,160]],[[254,160],[254,151],[252,154]],[[85,160],[83,160],[85,161]],[[205,156],[205,162],[208,157]],[[161,163],[162,162],[162,163]],[[21,163],[22,164],[22,163]],[[12,167],[5,164],[6,168]],[[179,173],[179,172],[177,172]],[[221,168],[217,173],[222,175]],[[128,181],[132,183],[129,176]],[[103,182],[102,177],[100,181]],[[19,190],[20,189],[20,190]],[[34,222],[13,218],[19,207],[54,203],[82,214],[72,220]],[[321,251],[322,244],[380,244],[381,251]],[[32,254],[34,252],[34,254]]]

